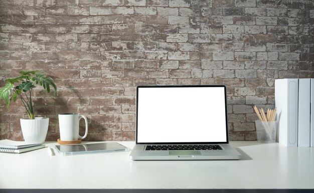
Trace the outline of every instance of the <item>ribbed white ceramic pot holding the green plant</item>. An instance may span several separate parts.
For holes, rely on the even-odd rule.
[[[22,118],[21,128],[24,140],[32,143],[43,143],[46,139],[48,125],[48,117]]]

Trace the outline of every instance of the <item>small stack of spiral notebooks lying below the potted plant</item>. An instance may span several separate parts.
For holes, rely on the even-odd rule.
[[[0,152],[23,153],[45,147],[41,143],[30,143],[26,141],[13,141],[9,139],[0,140]]]

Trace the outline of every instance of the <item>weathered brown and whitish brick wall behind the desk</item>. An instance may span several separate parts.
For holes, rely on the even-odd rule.
[[[225,84],[231,140],[255,140],[252,106],[274,106],[276,78],[314,78],[314,2],[0,0],[0,86],[43,69],[58,97],[35,108],[88,117],[87,140],[133,140],[135,86]],[[22,140],[21,102],[0,109],[0,139]],[[82,131],[83,132],[83,131]]]

